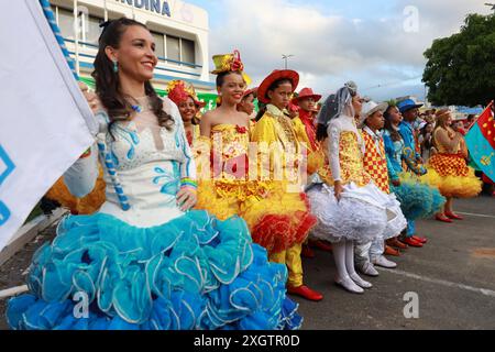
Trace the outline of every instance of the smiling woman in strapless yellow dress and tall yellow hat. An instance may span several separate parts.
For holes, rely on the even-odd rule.
[[[250,118],[238,111],[249,77],[239,52],[213,56],[221,105],[201,118],[200,136],[194,145],[199,175],[198,209],[226,220],[242,213],[246,198],[266,190],[249,180]]]

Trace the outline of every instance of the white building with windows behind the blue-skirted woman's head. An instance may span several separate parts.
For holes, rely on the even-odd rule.
[[[92,82],[90,74],[100,23],[127,16],[146,24],[155,38],[158,65],[153,85],[158,92],[163,94],[169,80],[184,79],[196,87],[201,100],[213,103],[215,84],[209,79],[209,23],[205,9],[179,0],[51,0],[51,3],[82,80]]]

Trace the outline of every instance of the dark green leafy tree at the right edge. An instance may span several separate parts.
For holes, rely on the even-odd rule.
[[[469,14],[460,33],[435,40],[425,57],[433,105],[487,105],[495,98],[495,14]]]

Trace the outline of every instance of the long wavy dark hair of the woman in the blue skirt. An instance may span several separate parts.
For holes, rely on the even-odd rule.
[[[113,72],[113,63],[108,58],[105,50],[107,46],[119,48],[123,33],[128,28],[133,25],[147,30],[144,24],[138,21],[121,18],[106,23],[103,33],[99,38],[99,50],[95,58],[95,70],[91,76],[96,81],[96,92],[110,118],[109,130],[111,130],[111,125],[117,121],[130,120],[134,110],[132,109],[132,103],[129,101],[131,97],[128,97],[121,90],[119,74]],[[152,110],[158,119],[160,125],[170,130],[174,124],[174,119],[163,110],[163,101],[150,81],[144,82],[144,90],[150,99]]]

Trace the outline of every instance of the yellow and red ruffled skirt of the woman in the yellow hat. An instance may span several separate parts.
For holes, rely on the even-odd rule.
[[[253,241],[268,253],[302,243],[316,224],[306,195],[288,191],[285,183],[201,182],[196,208],[208,210],[220,220],[242,217]]]

